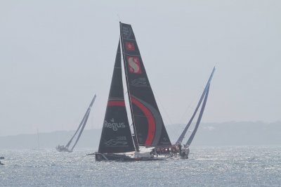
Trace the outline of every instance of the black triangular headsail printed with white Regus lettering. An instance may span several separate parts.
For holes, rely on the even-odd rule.
[[[125,153],[135,150],[124,101],[120,42],[108,96],[99,153]]]

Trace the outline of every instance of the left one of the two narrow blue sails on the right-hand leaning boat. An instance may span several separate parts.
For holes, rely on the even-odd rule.
[[[197,104],[197,106],[196,106],[196,108],[195,108],[195,111],[193,112],[193,115],[192,115],[192,117],[190,118],[188,124],[185,126],[185,129],[184,129],[183,132],[181,133],[181,136],[178,137],[178,140],[176,141],[176,144],[181,144],[181,142],[183,141],[183,138],[185,137],[185,134],[186,134],[186,132],[188,131],[188,128],[190,127],[190,124],[192,123],[192,120],[194,119],[194,117],[195,117],[195,115],[196,115],[198,109],[200,108],[200,105],[201,105],[201,103],[202,103],[202,101],[203,101],[203,98],[206,97],[206,92],[207,92],[207,89],[209,90],[208,87],[209,87],[209,84],[211,84],[211,79],[212,79],[212,77],[213,77],[213,75],[214,75],[215,70],[216,70],[216,68],[214,67],[213,70],[211,71],[211,75],[210,75],[210,77],[209,77],[209,79],[208,79],[208,82],[207,82],[205,88],[204,88],[204,91],[203,91],[203,93],[202,93],[202,96],[201,96],[201,98],[200,98],[200,101],[198,102],[198,104]]]

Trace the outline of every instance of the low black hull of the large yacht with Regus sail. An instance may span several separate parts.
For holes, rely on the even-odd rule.
[[[96,155],[96,161],[136,162],[136,161],[166,160],[166,158],[129,157],[127,155],[118,155],[112,153],[94,153],[94,154]]]

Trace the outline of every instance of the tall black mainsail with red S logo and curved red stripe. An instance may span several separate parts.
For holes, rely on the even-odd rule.
[[[139,146],[171,146],[131,25],[120,22],[131,115]]]

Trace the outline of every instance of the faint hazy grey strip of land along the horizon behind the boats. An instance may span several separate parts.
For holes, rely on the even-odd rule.
[[[181,134],[185,124],[166,125],[171,142]],[[77,148],[97,148],[101,129],[86,129]],[[74,131],[39,133],[40,148],[65,145]],[[189,136],[190,134],[188,134]],[[191,146],[278,146],[281,144],[281,122],[202,123]],[[37,134],[0,136],[0,149],[36,149]]]

